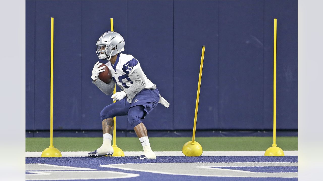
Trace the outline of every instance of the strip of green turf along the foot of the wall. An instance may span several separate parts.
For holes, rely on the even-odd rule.
[[[154,151],[181,151],[192,137],[150,137]],[[203,151],[265,151],[273,143],[272,137],[197,137]],[[54,146],[60,151],[93,151],[102,144],[101,137],[56,137]],[[26,138],[26,151],[43,151],[49,138]],[[138,138],[117,137],[117,146],[123,151],[142,151]],[[277,146],[297,150],[297,137],[278,137]]]

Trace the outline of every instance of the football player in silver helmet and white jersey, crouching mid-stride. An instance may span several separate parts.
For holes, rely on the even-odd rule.
[[[117,102],[106,106],[101,111],[103,144],[100,148],[88,153],[88,156],[102,157],[113,154],[111,146],[113,117],[127,115],[143,148],[143,154],[136,159],[156,159],[150,147],[147,129],[140,119],[144,119],[158,103],[166,108],[169,107],[169,103],[160,96],[156,85],[146,77],[139,61],[132,55],[121,53],[124,51],[124,44],[123,37],[116,32],[103,33],[97,41],[97,55],[101,60],[108,60],[106,65],[113,81],[107,84],[98,78],[99,73],[105,70],[104,66],[99,68],[102,63],[97,62],[92,70],[92,82],[107,95],[113,93],[115,83],[121,91],[111,96],[113,101],[117,100]]]

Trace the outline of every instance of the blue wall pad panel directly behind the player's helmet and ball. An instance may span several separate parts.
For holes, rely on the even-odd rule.
[[[109,3],[108,3],[109,2]],[[109,11],[96,11],[102,3],[107,3],[111,7],[127,7],[127,1],[82,1],[82,46],[81,60],[82,66],[82,108],[81,125],[82,129],[102,129],[101,110],[113,103],[110,96],[104,94],[92,83],[92,69],[96,62],[107,63],[106,60],[99,60],[96,54],[96,43],[99,37],[111,30],[110,17],[114,20],[114,31],[122,34],[127,40],[127,8],[110,8]],[[120,23],[123,22],[123,23]],[[127,47],[128,42],[125,41]],[[125,49],[127,53],[127,49]],[[120,89],[117,86],[117,90]],[[126,129],[127,119],[117,119],[117,129]]]

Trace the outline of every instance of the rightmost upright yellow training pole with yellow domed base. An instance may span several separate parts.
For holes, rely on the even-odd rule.
[[[285,156],[284,151],[276,145],[276,44],[277,44],[277,19],[274,19],[274,130],[273,144],[265,151],[265,156]]]

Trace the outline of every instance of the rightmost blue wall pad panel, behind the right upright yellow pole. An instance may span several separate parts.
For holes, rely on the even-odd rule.
[[[297,129],[297,3],[265,1],[264,129],[273,121],[274,18],[277,18],[277,129]]]

